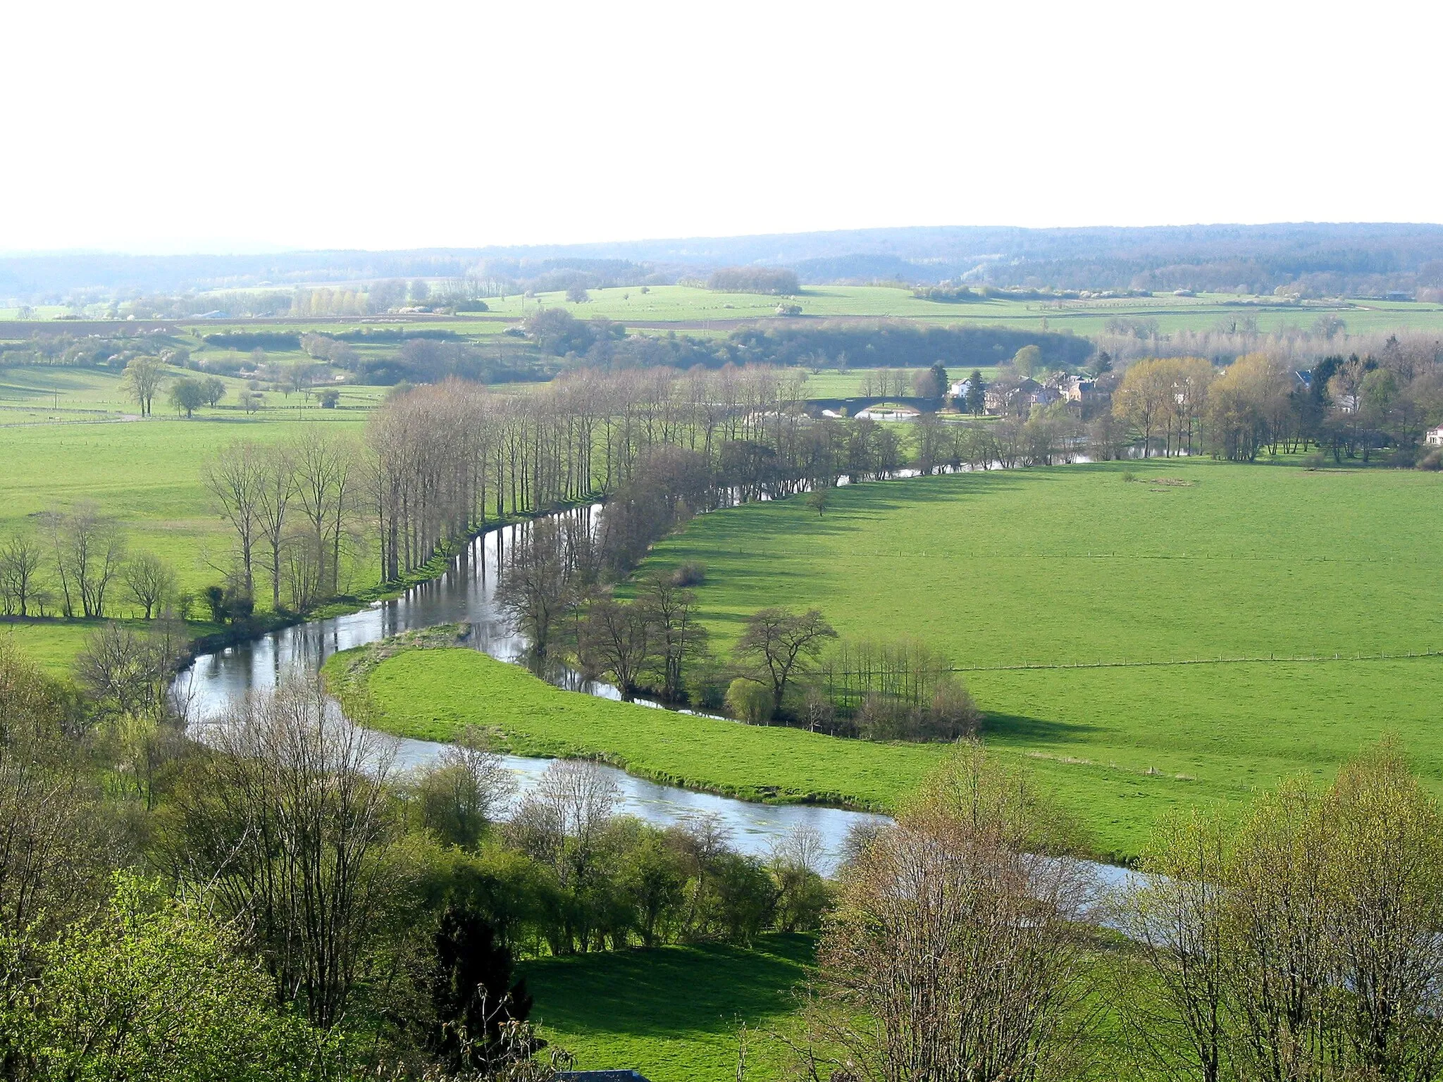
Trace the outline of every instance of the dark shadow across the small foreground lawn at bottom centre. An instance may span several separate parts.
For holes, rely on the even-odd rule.
[[[792,1010],[815,954],[807,935],[766,935],[750,951],[723,944],[547,958],[521,968],[531,1017],[567,1032],[657,1037],[730,1033]]]

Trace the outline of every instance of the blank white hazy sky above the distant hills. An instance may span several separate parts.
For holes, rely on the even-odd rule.
[[[17,0],[0,251],[1439,222],[1440,9]]]

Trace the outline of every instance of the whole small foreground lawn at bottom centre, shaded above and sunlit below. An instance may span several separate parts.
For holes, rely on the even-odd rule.
[[[814,941],[762,936],[745,951],[720,944],[592,954],[528,962],[543,1036],[573,1052],[579,1070],[632,1068],[652,1082],[733,1078],[745,1024],[747,1078],[784,1076],[785,1049],[769,1030],[795,1011],[792,990]]]

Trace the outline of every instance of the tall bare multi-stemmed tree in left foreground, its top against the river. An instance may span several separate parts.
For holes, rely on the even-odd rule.
[[[284,1000],[335,1026],[394,892],[382,850],[395,744],[300,682],[232,705],[208,742],[162,857],[254,929]]]

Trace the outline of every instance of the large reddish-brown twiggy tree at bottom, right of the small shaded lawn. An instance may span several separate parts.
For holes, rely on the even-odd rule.
[[[1019,778],[962,749],[841,880],[804,1070],[876,1082],[1066,1076],[1085,956],[1076,861],[1039,856]]]

